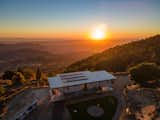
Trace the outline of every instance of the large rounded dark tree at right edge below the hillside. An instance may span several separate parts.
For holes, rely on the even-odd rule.
[[[155,63],[141,63],[129,69],[131,80],[142,86],[160,79],[160,68]]]

